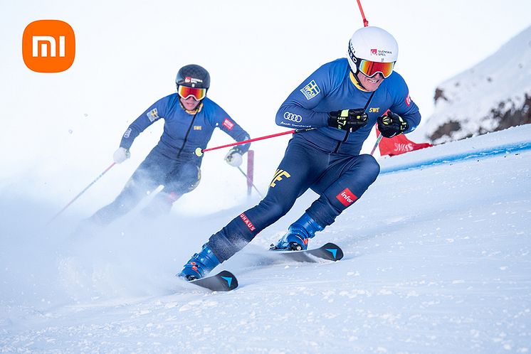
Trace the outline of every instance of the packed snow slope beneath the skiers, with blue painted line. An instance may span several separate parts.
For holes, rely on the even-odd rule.
[[[527,125],[381,159],[369,191],[310,240],[340,245],[340,262],[267,251],[306,193],[221,264],[240,282],[229,293],[174,274],[258,200],[81,236],[71,215],[43,225],[46,200],[2,191],[0,351],[530,353],[530,136]]]

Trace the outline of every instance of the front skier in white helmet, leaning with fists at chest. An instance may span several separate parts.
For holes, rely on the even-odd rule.
[[[374,124],[383,136],[392,137],[411,132],[421,120],[406,82],[393,71],[397,55],[391,34],[361,28],[349,41],[347,58],[322,65],[288,96],[276,123],[311,130],[293,135],[265,198],[212,235],[179,277],[204,277],[288,213],[311,188],[320,197],[272,247],[306,250],[315,232],[332,224],[367,191],[379,164],[359,152]]]

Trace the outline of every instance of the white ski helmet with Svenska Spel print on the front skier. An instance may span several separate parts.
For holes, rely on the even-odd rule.
[[[354,74],[358,72],[361,60],[368,60],[374,63],[394,63],[397,58],[398,43],[391,36],[391,33],[382,28],[374,26],[359,28],[350,38],[347,60]],[[389,75],[391,75],[391,72],[388,75],[384,75],[384,77]]]

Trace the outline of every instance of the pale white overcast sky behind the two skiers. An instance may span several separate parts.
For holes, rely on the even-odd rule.
[[[369,25],[396,37],[396,71],[425,117],[433,110],[438,83],[531,25],[526,0],[364,0],[362,5]],[[73,27],[76,57],[64,73],[33,73],[23,63],[23,30],[40,19]],[[209,97],[251,136],[280,132],[274,115],[285,97],[320,65],[345,57],[349,37],[362,26],[355,0],[1,0],[0,188],[30,178],[41,183],[39,193],[75,195],[92,179],[87,176],[97,176],[112,161],[127,125],[174,92],[177,70],[189,63],[210,71]],[[122,188],[156,144],[161,125],[135,141],[132,159],[100,188],[109,193]],[[258,180],[270,178],[287,139],[253,145],[263,168]],[[218,133],[211,146],[227,142]],[[204,166],[207,175],[209,168],[226,172],[223,156],[223,151],[205,156],[204,165],[211,161]],[[241,178],[238,173],[233,179]],[[71,184],[54,183],[57,176]]]

